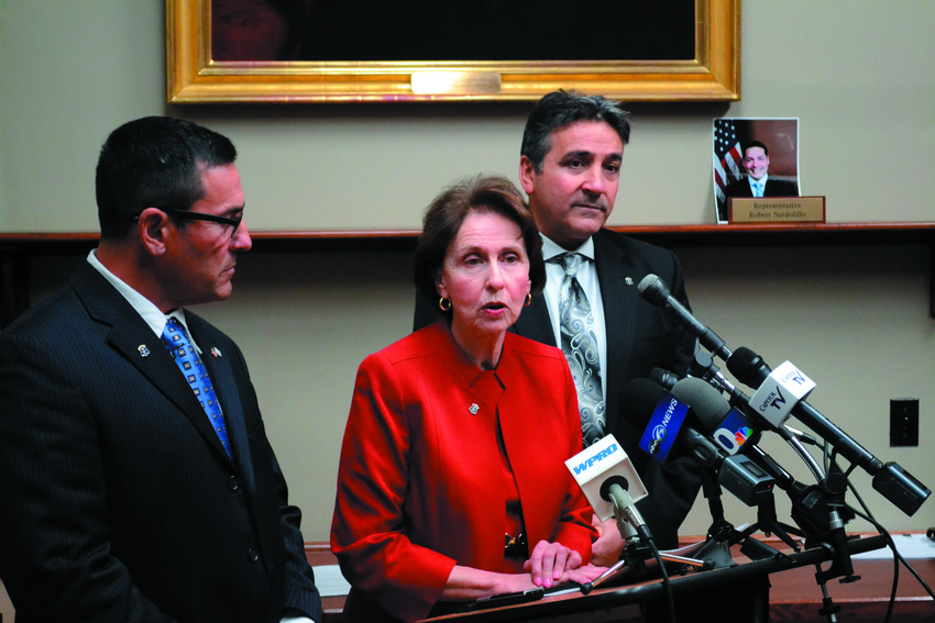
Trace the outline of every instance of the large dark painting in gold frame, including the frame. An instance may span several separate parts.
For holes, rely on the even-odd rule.
[[[740,99],[740,0],[166,0],[168,101]],[[586,23],[585,23],[586,21]]]

